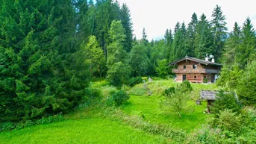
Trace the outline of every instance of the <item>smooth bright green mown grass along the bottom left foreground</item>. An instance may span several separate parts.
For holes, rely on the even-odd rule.
[[[66,120],[0,133],[0,143],[164,143],[164,138],[107,119]]]

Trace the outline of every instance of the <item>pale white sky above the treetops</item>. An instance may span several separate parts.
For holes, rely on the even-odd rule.
[[[157,40],[163,37],[167,28],[173,31],[177,22],[187,25],[194,12],[198,19],[205,13],[211,20],[216,4],[222,7],[228,31],[233,29],[234,22],[242,26],[247,17],[256,27],[256,0],[119,0],[119,3],[128,5],[137,39],[141,39],[145,28],[148,40]]]

